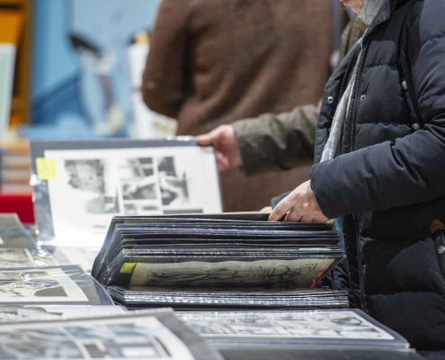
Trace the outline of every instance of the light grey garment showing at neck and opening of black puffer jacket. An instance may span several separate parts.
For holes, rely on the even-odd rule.
[[[365,0],[365,3],[363,4],[363,6],[361,6],[359,13],[359,18],[361,19],[361,21],[363,23],[366,23],[367,25],[370,25],[376,18],[382,4],[385,1],[386,0]],[[364,35],[360,39],[360,48],[363,45],[361,43],[361,40],[363,38]],[[325,148],[323,149],[321,161],[331,160],[335,157],[335,151],[337,150],[340,139],[342,138],[343,122],[348,116],[349,108],[351,105],[352,90],[355,85],[355,77],[357,76],[357,70],[361,58],[361,51],[362,48],[360,49],[359,57],[352,72],[351,80],[346,87],[342,98],[340,99],[340,103],[338,103],[337,109],[335,110],[334,121],[330,130],[329,139],[327,139]]]

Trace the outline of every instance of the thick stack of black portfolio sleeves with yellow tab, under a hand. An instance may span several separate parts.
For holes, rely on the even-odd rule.
[[[132,309],[347,307],[346,293],[313,289],[344,257],[333,226],[267,219],[118,217],[92,275]]]

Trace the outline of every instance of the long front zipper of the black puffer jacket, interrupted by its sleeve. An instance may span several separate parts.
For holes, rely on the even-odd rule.
[[[361,73],[363,71],[363,62],[366,57],[366,54],[368,52],[369,43],[370,43],[370,36],[368,36],[368,39],[366,40],[366,43],[363,45],[363,51],[361,53],[360,63],[359,63],[359,69],[357,71],[357,77],[355,80],[355,94],[354,94],[354,107],[352,108],[352,118],[351,118],[351,138],[350,138],[350,151],[352,152],[354,150],[354,140],[355,140],[355,121],[357,116],[357,99],[359,98],[359,85],[360,85],[360,77]],[[364,284],[362,279],[362,261],[361,261],[361,251],[360,251],[360,234],[359,234],[359,227],[358,227],[358,220],[356,215],[352,215],[352,222],[354,226],[355,231],[355,243],[357,245],[357,263],[359,267],[359,291],[360,291],[360,309],[361,311],[366,311],[366,305],[365,305],[365,290],[364,290]]]

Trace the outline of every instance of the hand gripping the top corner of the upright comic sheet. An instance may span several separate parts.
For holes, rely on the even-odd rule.
[[[196,139],[201,146],[213,145],[219,171],[226,171],[241,166],[243,163],[232,125],[221,125],[207,134],[198,136]]]

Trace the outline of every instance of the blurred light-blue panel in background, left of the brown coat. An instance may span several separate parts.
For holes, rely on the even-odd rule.
[[[32,123],[57,127],[77,119],[97,135],[118,119],[123,127],[103,135],[126,135],[132,121],[127,50],[138,31],[151,30],[160,2],[35,0]],[[98,51],[75,47],[73,37]]]

